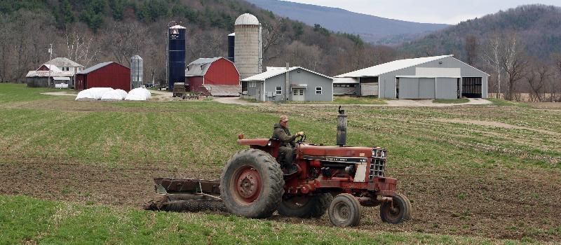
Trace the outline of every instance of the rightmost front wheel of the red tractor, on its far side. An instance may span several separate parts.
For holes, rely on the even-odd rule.
[[[411,202],[402,194],[396,194],[392,202],[384,202],[380,206],[381,221],[391,224],[402,223],[411,216]]]

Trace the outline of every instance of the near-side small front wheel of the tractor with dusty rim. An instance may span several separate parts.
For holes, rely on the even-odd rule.
[[[329,219],[335,226],[356,226],[360,223],[361,215],[360,203],[349,193],[337,195],[329,205]]]

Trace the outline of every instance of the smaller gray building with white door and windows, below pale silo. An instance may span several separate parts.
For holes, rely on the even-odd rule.
[[[300,66],[267,67],[267,71],[242,82],[248,85],[245,97],[264,102],[333,100],[332,78]]]

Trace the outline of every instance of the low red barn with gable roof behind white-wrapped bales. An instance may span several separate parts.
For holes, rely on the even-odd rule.
[[[130,91],[130,69],[116,62],[104,62],[76,73],[76,90],[112,87]]]

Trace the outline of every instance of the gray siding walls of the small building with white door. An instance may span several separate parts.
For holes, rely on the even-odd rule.
[[[298,72],[300,71],[300,72]],[[285,91],[286,74],[280,74],[266,79],[266,92],[272,92],[273,97],[267,97],[267,101],[282,101],[283,94],[276,94],[276,87],[281,87]],[[333,80],[311,73],[304,69],[295,69],[289,72],[291,87],[306,84],[304,98],[306,101],[327,101],[333,100]],[[316,87],[322,88],[322,94],[316,94]],[[292,100],[292,90],[289,91],[289,100]]]

